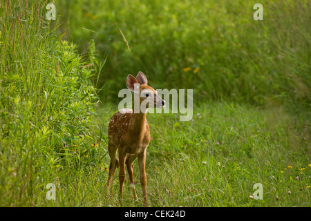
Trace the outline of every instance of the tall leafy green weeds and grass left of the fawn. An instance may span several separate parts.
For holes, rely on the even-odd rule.
[[[96,151],[103,144],[94,119],[96,70],[61,40],[45,7],[42,1],[1,1],[1,206],[41,204],[46,184],[105,153]]]

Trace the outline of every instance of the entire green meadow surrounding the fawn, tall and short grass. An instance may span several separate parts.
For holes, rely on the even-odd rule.
[[[311,206],[310,1],[262,1],[263,21],[256,1],[54,3],[48,20],[48,1],[1,1],[0,206],[143,206],[137,161],[138,200],[128,178],[122,204],[117,175],[106,191],[109,120],[140,70],[194,89],[190,121],[147,115],[149,206]]]

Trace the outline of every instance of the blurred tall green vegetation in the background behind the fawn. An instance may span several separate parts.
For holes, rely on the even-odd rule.
[[[117,102],[126,75],[141,70],[155,88],[193,88],[195,102],[310,107],[310,1],[261,1],[263,21],[255,3],[78,0],[57,10],[65,39],[79,52],[95,39],[106,58],[104,100]]]

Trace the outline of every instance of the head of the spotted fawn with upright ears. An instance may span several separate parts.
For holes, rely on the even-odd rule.
[[[158,92],[148,86],[147,83],[147,77],[142,72],[139,72],[136,78],[133,75],[128,75],[126,78],[127,88],[133,91],[134,94],[139,93],[140,95],[139,104],[142,106],[141,110],[149,107],[163,108],[166,102],[158,95]]]

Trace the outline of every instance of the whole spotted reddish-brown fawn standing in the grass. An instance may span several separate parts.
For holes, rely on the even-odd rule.
[[[135,191],[133,180],[133,161],[138,157],[140,169],[140,184],[142,185],[142,193],[144,195],[144,205],[147,205],[147,176],[145,170],[146,150],[149,146],[151,135],[149,124],[146,119],[149,104],[156,105],[158,108],[163,108],[165,101],[158,95],[157,91],[147,85],[147,77],[144,73],[139,72],[138,75],[128,75],[126,78],[126,87],[135,93],[140,93],[139,103],[133,103],[133,110],[124,108],[117,111],[111,117],[109,123],[109,141],[108,151],[111,158],[109,165],[109,178],[107,189],[111,184],[111,180],[115,173],[115,169],[120,166],[119,181],[120,181],[120,200],[122,200],[123,184],[126,177],[125,165],[129,173],[130,184],[133,184],[133,194],[135,200],[138,198]],[[146,104],[141,105],[142,102]],[[137,107],[139,104],[139,107]],[[142,106],[142,107],[140,107]],[[136,111],[139,110],[139,111]],[[136,113],[138,112],[138,113]],[[118,150],[119,159],[115,155]],[[132,186],[132,185],[131,185]]]

